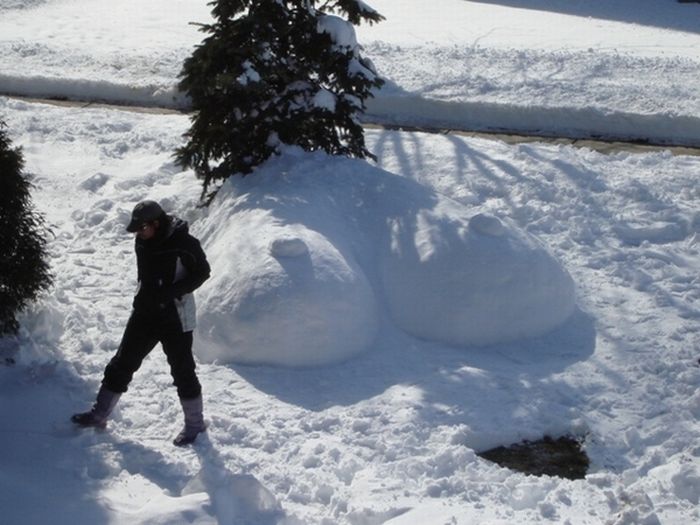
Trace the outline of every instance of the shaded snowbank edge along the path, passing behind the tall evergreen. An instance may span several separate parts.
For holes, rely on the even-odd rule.
[[[183,111],[189,108],[187,97],[174,86],[100,80],[0,74],[0,94]],[[444,101],[391,90],[380,91],[367,101],[363,121],[389,126],[700,147],[700,116],[628,113],[596,107]]]

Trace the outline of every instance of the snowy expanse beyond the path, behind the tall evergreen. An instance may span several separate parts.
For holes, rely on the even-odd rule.
[[[22,6],[26,6],[22,8]],[[700,5],[376,0],[356,28],[387,80],[375,122],[700,145]],[[0,93],[186,107],[194,0],[0,2]],[[42,20],[51,20],[43,24]],[[351,44],[352,27],[326,29]]]

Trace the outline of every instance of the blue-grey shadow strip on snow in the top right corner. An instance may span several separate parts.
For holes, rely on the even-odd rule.
[[[700,6],[677,3],[677,0],[626,0],[591,2],[589,0],[468,0],[467,3],[500,4],[518,9],[551,11],[566,15],[627,22],[674,29],[687,33],[700,32]],[[665,3],[667,5],[660,6]]]

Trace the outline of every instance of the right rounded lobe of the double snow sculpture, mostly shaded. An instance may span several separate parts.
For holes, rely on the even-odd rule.
[[[442,200],[414,227],[391,224],[382,270],[391,314],[406,332],[453,345],[542,335],[575,306],[573,281],[531,235]]]

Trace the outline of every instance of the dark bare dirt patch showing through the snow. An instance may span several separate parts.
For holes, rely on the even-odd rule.
[[[523,441],[479,453],[484,459],[533,476],[557,476],[583,479],[590,461],[581,443],[568,436],[545,436],[538,441]]]

